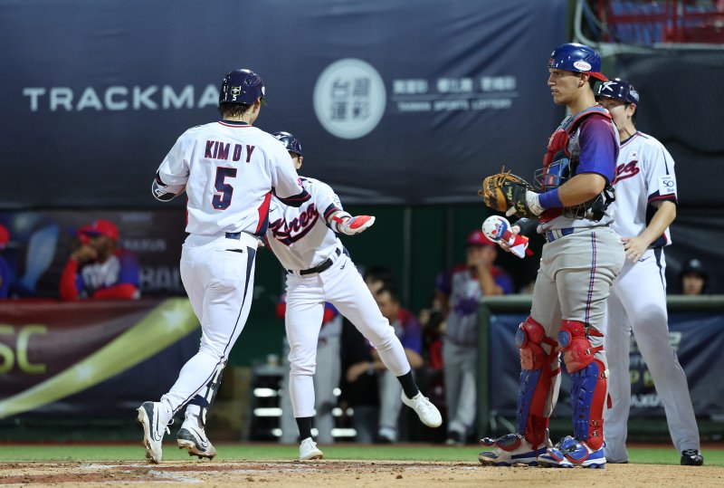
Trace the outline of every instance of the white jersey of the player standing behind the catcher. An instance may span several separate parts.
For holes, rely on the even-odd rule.
[[[654,202],[677,202],[672,155],[661,142],[637,131],[621,144],[614,187],[614,231],[622,237],[635,237],[651,222]],[[669,244],[672,237],[667,227],[651,247]]]

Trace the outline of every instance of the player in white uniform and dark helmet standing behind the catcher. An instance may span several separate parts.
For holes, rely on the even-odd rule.
[[[673,444],[681,453],[681,464],[700,466],[704,459],[699,451],[699,430],[686,376],[669,343],[666,311],[663,247],[672,244],[669,225],[677,206],[673,159],[661,142],[636,130],[639,94],[630,82],[605,81],[598,87],[596,100],[611,112],[621,138],[612,227],[622,236],[627,258],[608,298],[605,349],[613,407],[605,415],[605,457],[609,463],[628,462],[625,443],[633,330],[662,400]]]

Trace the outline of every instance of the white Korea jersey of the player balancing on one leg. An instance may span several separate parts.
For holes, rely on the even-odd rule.
[[[339,197],[318,179],[302,177],[301,183],[310,200],[295,208],[273,197],[266,234],[271,251],[292,271],[313,268],[342,249],[337,234],[327,225],[329,215],[343,210]]]

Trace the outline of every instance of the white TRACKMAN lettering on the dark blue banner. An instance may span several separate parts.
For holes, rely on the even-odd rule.
[[[169,85],[87,87],[73,91],[68,87],[28,87],[23,89],[30,111],[81,110],[186,110],[215,107],[219,89],[206,85],[202,89],[186,85],[176,89]]]

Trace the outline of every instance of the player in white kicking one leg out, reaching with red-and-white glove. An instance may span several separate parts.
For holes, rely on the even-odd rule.
[[[274,137],[284,143],[299,169],[303,162],[299,139],[289,132],[275,132]],[[374,224],[375,217],[353,217],[344,211],[328,185],[313,178],[301,181],[310,201],[292,207],[272,198],[267,231],[271,251],[287,270],[289,391],[300,429],[300,460],[323,457],[311,437],[311,422],[315,399],[312,378],[325,301],[334,305],[377,349],[386,368],[402,384],[403,403],[414,409],[424,425],[440,426],[440,412],[417,388],[405,349],[336,234],[359,234]]]

